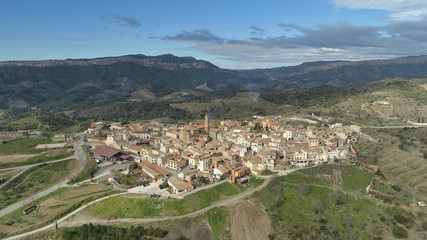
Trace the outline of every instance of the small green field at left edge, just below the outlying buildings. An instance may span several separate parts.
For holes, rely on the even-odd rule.
[[[39,144],[51,143],[47,138],[17,138],[4,141],[0,144],[0,154],[7,153],[38,153],[42,150],[35,149]]]

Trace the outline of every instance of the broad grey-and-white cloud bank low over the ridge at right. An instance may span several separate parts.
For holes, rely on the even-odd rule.
[[[427,54],[427,17],[389,21],[382,26],[354,25],[349,22],[321,24],[315,27],[304,27],[295,23],[279,23],[277,26],[282,29],[282,33],[275,36],[255,34],[247,38],[225,38],[204,29],[181,31],[162,39],[190,43],[191,48],[236,64],[259,63],[263,66]],[[264,29],[256,25],[249,28],[265,33]]]

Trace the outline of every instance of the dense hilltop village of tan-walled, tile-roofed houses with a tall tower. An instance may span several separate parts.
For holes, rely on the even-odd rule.
[[[179,194],[192,190],[194,179],[243,184],[250,174],[346,161],[354,154],[360,127],[290,125],[280,117],[257,116],[215,125],[206,115],[204,125],[98,122],[86,133],[98,162],[135,161],[145,180],[138,185],[165,181]],[[115,176],[110,182],[116,182]]]

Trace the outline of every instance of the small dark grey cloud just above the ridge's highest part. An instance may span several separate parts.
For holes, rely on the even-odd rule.
[[[163,40],[177,41],[177,42],[189,42],[189,43],[223,43],[224,40],[214,35],[208,30],[194,30],[192,32],[182,31],[181,33],[175,36],[166,36],[162,38]]]

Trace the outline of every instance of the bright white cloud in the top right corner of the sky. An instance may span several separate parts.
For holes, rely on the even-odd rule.
[[[421,19],[427,16],[425,0],[332,0],[331,3],[338,8],[351,10],[389,11],[389,19],[392,20]]]

